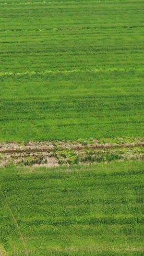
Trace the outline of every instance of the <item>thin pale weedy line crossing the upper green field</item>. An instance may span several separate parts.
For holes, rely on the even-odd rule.
[[[73,69],[73,70],[64,70],[64,71],[61,71],[61,70],[57,70],[57,71],[52,71],[52,70],[48,70],[48,71],[44,71],[44,72],[38,72],[38,71],[32,71],[32,72],[29,72],[29,71],[26,71],[26,72],[22,72],[22,73],[12,73],[12,72],[0,72],[0,76],[3,76],[3,75],[25,75],[25,74],[29,74],[29,75],[34,75],[34,74],[48,74],[48,73],[85,73],[85,72],[88,72],[88,73],[97,73],[97,72],[115,72],[115,71],[118,71],[118,72],[125,72],[125,71],[143,71],[144,68],[139,68],[139,69],[136,69],[136,68],[108,68],[108,69],[92,69],[92,70],[89,70],[89,69],[86,69],[86,70],[76,70],[76,69]]]

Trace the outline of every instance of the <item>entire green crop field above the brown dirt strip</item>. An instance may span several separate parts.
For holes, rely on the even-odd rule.
[[[0,1],[0,141],[144,135],[144,1]]]

